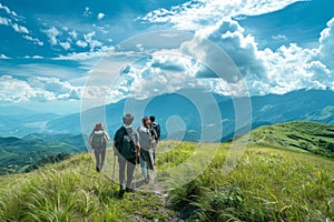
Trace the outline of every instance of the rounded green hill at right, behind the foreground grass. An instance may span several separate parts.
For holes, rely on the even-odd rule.
[[[252,131],[250,143],[334,158],[334,124],[296,121],[261,127]]]

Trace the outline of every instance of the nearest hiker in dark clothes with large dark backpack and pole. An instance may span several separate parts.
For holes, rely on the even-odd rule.
[[[114,137],[114,155],[118,155],[119,165],[119,198],[125,192],[132,192],[131,182],[137,158],[140,155],[139,134],[132,129],[134,115],[127,113],[122,118],[122,127],[119,128]],[[127,178],[125,170],[127,168]]]

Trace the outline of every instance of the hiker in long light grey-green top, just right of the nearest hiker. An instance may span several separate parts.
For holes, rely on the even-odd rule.
[[[150,131],[150,120],[145,117],[143,118],[143,127],[138,128],[139,133],[139,143],[140,143],[140,168],[144,175],[144,180],[146,183],[149,182],[149,170],[154,170],[154,158],[153,158],[153,150],[154,150],[154,135]]]

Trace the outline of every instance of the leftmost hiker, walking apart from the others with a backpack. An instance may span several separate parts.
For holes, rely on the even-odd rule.
[[[100,172],[105,164],[107,141],[109,142],[109,135],[105,131],[104,124],[96,123],[89,135],[89,144],[94,150],[97,172]]]

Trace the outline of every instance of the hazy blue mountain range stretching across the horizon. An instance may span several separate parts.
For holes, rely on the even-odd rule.
[[[193,92],[193,93],[196,93]],[[198,109],[194,102],[185,97],[185,92],[161,94],[147,100],[124,99],[106,107],[97,107],[84,111],[59,117],[52,113],[33,113],[31,111],[3,115],[0,112],[1,137],[24,137],[35,132],[88,134],[95,122],[101,121],[107,125],[110,135],[121,125],[125,112],[135,114],[135,127],[140,124],[141,115],[155,114],[161,125],[163,139],[178,139],[199,141],[200,134],[210,128],[222,127],[220,141],[235,137],[235,104],[249,99],[252,107],[252,129],[261,125],[282,123],[295,120],[308,120],[323,123],[334,123],[334,92],[330,90],[298,90],[286,94],[266,94],[250,98],[230,98],[213,94],[212,103]],[[198,93],[200,94],[200,93]],[[218,109],[220,117],[213,118],[212,110]],[[202,113],[200,113],[202,112]],[[102,113],[106,113],[104,119]],[[250,117],[250,115],[249,115]],[[203,124],[202,118],[207,119]],[[212,118],[212,120],[210,120]],[[212,121],[212,122],[210,122]],[[220,125],[218,125],[220,124]],[[217,128],[218,129],[218,128]],[[86,137],[86,135],[85,135]]]

